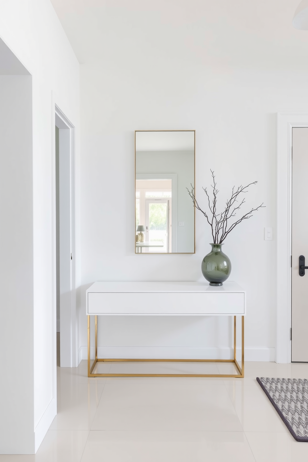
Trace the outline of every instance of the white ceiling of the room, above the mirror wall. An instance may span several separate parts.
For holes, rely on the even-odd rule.
[[[200,66],[307,68],[300,0],[51,0],[80,63],[144,53]]]

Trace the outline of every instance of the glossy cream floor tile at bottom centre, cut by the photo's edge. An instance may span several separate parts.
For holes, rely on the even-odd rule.
[[[226,454],[228,458],[226,458]],[[254,462],[243,432],[91,432],[81,462]]]

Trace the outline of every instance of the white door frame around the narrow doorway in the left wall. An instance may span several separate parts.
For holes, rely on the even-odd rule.
[[[52,293],[53,293],[53,306],[54,315],[56,317],[56,191],[55,191],[55,126],[58,128],[65,128],[69,130],[69,152],[70,157],[70,241],[71,241],[71,294],[70,294],[70,308],[66,316],[61,316],[60,310],[60,354],[62,353],[62,361],[60,357],[61,366],[64,367],[77,367],[78,366],[78,329],[76,317],[76,210],[75,210],[75,128],[72,123],[67,119],[61,109],[54,102],[54,95],[52,95],[52,111],[53,111],[53,152],[52,152]],[[56,330],[56,329],[55,329]],[[62,331],[62,335],[61,335]],[[64,335],[63,335],[64,334]],[[65,341],[63,341],[65,339]],[[62,350],[62,352],[61,352]],[[64,354],[63,354],[64,352]],[[65,360],[63,361],[63,357]]]

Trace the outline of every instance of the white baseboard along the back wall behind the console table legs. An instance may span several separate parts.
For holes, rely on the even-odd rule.
[[[91,358],[94,358],[94,346],[91,346]],[[241,348],[236,350],[240,358]],[[233,348],[228,347],[184,347],[184,346],[98,346],[98,358],[133,358],[133,359],[232,359]],[[88,359],[88,347],[80,346],[78,362]],[[245,361],[275,361],[275,348],[253,347],[245,348]]]

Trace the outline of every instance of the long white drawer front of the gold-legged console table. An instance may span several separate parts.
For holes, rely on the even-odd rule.
[[[88,292],[88,314],[244,314],[243,292]]]

